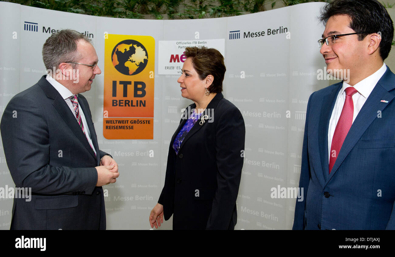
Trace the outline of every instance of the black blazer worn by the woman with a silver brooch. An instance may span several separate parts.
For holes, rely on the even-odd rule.
[[[158,203],[173,229],[234,229],[243,168],[245,125],[239,109],[218,93],[184,138],[178,155],[173,142],[195,104],[186,108],[170,141],[166,179]]]

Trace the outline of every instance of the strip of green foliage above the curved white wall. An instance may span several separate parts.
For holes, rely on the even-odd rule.
[[[274,7],[330,0],[9,0],[57,11],[130,19],[203,19],[266,11]]]

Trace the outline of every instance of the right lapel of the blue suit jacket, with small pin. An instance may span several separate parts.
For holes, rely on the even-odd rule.
[[[386,73],[380,78],[376,86],[373,88],[372,93],[366,99],[365,104],[363,104],[359,114],[355,118],[350,131],[346,138],[344,139],[342,148],[340,149],[339,156],[337,156],[336,162],[333,165],[329,179],[333,177],[339,166],[342,164],[348,153],[355,146],[358,140],[361,138],[363,133],[371,125],[374,119],[377,118],[378,111],[383,111],[387,105],[393,100],[394,95],[388,91],[394,89],[395,85],[393,81],[395,80],[395,75],[387,67]],[[381,100],[386,100],[386,102],[380,102]]]

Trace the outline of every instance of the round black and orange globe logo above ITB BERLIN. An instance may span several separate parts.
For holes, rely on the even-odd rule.
[[[126,39],[113,49],[111,61],[117,71],[125,75],[139,74],[148,62],[148,53],[138,41]]]

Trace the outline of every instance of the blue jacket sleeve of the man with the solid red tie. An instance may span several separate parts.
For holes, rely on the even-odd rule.
[[[308,183],[310,182],[310,164],[308,161],[308,114],[310,111],[310,101],[311,97],[314,93],[310,95],[307,103],[307,111],[306,111],[306,123],[305,123],[305,134],[303,136],[303,149],[302,149],[302,164],[301,164],[301,172],[299,179],[299,188],[303,188],[303,201],[299,201],[296,199],[295,205],[295,216],[293,218],[293,230],[297,229],[305,229],[305,208],[306,208],[306,197],[307,197],[307,189]],[[300,189],[299,189],[300,190]]]

